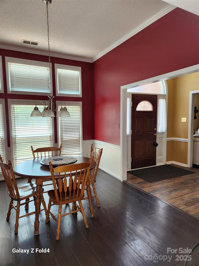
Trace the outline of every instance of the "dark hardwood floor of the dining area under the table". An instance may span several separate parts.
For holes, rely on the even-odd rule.
[[[95,187],[100,207],[93,202],[94,218],[89,217],[88,201],[82,202],[89,228],[80,213],[64,216],[56,240],[57,224],[52,218],[45,224],[44,212],[40,213],[39,235],[34,236],[35,215],[21,218],[18,235],[14,234],[15,212],[7,222],[9,196],[5,183],[0,182],[0,265],[184,265],[187,249],[198,242],[197,219],[101,170]],[[34,210],[33,202],[29,209]],[[23,206],[21,211],[25,213]],[[57,214],[55,206],[53,213]],[[34,253],[14,253],[14,249]],[[199,265],[198,251],[199,246],[186,266]]]

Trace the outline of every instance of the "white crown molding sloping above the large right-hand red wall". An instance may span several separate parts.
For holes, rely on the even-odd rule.
[[[129,38],[136,35],[138,32],[140,32],[144,28],[148,27],[150,24],[152,24],[153,22],[155,22],[159,18],[163,17],[164,15],[168,14],[169,12],[174,10],[175,8],[176,7],[174,7],[172,5],[169,5],[165,8],[163,8],[162,10],[160,10],[160,12],[156,13],[154,16],[150,17],[145,22],[141,23],[139,26],[134,28],[132,31],[128,32],[126,35],[124,35],[118,41],[114,42],[111,46],[107,47],[104,51],[100,52],[97,56],[94,56],[92,59],[92,62],[94,62],[97,59],[99,59],[100,57],[104,56],[105,54],[107,54],[108,52],[113,50],[115,47],[117,47],[118,45],[120,45],[124,41],[127,41]]]

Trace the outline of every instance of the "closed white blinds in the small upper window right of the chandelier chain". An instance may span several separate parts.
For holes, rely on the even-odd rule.
[[[57,68],[58,93],[80,95],[80,71]]]

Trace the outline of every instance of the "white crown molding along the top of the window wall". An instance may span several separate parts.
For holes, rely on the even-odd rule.
[[[12,50],[12,51],[30,53],[30,54],[35,54],[35,55],[42,55],[42,56],[49,56],[49,53],[45,52],[45,51],[34,50],[34,49],[29,49],[29,48],[22,48],[22,47],[11,46],[11,45],[0,44],[0,49]],[[78,57],[78,56],[69,56],[69,55],[58,54],[58,53],[51,53],[50,52],[50,57],[58,57],[58,58],[64,58],[64,59],[69,59],[69,60],[76,60],[76,61],[92,63],[92,60],[90,58]]]

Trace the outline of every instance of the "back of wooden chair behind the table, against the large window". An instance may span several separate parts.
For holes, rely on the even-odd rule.
[[[41,157],[50,157],[50,156],[61,156],[61,150],[62,150],[62,144],[59,148],[57,147],[43,147],[43,148],[37,148],[33,149],[31,146],[32,154],[35,159],[35,154],[37,158]]]

